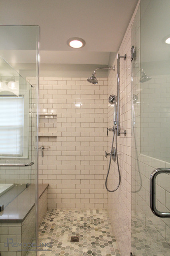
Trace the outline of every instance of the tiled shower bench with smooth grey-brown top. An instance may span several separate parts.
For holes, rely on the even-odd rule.
[[[48,184],[39,184],[39,225],[47,211],[47,188]],[[0,212],[1,256],[26,254],[28,247],[25,246],[22,252],[18,252],[21,246],[15,243],[26,245],[34,237],[36,218],[34,203],[35,185],[31,184]]]

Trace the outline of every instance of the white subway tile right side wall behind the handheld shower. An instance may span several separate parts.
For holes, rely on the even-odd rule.
[[[108,192],[107,208],[122,256],[130,255],[131,251],[131,27],[138,6],[128,25],[119,53],[127,60],[120,60],[120,122],[121,131],[127,130],[127,136],[121,134],[117,139],[119,166],[121,171],[121,184],[116,192]],[[117,60],[113,63],[117,66]],[[117,69],[116,69],[117,70]],[[110,71],[108,77],[108,97],[117,95],[117,71]],[[108,108],[108,127],[113,127],[113,107]],[[113,133],[109,132],[108,152],[111,151]],[[108,178],[108,187],[113,190],[117,187],[119,175],[117,162],[111,164]]]

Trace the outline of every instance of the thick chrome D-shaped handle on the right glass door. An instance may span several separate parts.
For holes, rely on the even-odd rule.
[[[156,209],[156,176],[160,173],[170,174],[170,168],[158,168],[150,174],[150,209],[160,218],[170,218],[170,212],[160,212]]]

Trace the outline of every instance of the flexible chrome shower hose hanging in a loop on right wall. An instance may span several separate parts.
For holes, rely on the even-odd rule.
[[[116,134],[116,136],[115,136],[115,134]],[[116,137],[116,158],[117,158],[117,168],[118,168],[118,173],[119,173],[119,183],[118,183],[117,188],[115,188],[114,190],[109,190],[109,188],[107,187],[107,179],[108,179],[110,168],[111,168],[112,151],[113,151],[113,144],[114,144],[114,138],[115,137]],[[121,183],[121,173],[120,173],[120,168],[119,168],[119,160],[118,160],[118,156],[117,156],[117,132],[116,132],[116,125],[114,124],[114,126],[113,126],[113,140],[112,140],[112,146],[111,146],[111,155],[110,155],[110,160],[109,160],[109,167],[108,167],[108,171],[107,171],[105,186],[106,186],[106,189],[107,189],[108,192],[115,192],[119,188],[120,183]]]

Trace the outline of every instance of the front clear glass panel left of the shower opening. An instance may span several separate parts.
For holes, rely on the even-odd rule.
[[[0,35],[0,255],[36,256],[39,26]]]

